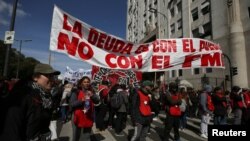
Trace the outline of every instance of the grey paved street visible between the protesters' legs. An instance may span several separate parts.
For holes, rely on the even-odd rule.
[[[160,114],[160,119],[157,121],[153,121],[151,124],[151,131],[150,134],[148,134],[146,140],[147,141],[161,141],[161,138],[163,136],[163,129],[164,129],[164,114]],[[180,131],[180,136],[182,141],[206,141],[206,139],[203,139],[199,136],[199,125],[200,120],[196,118],[188,118],[188,125],[187,129],[184,131]],[[65,124],[59,124],[58,126],[58,133],[60,136],[60,141],[71,141],[72,139],[72,126],[70,122],[67,122]],[[123,131],[125,136],[117,137],[115,136],[114,130],[108,130],[98,132],[93,127],[93,141],[128,141],[128,139],[133,134],[133,127],[130,122],[130,119],[127,121],[126,129]],[[173,132],[171,133],[173,136]],[[82,141],[82,140],[80,140]]]

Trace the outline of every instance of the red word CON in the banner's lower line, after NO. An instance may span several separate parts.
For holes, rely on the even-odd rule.
[[[126,57],[126,56],[117,56],[115,54],[108,54],[105,57],[105,61],[107,65],[112,68],[121,68],[121,69],[129,69],[129,68],[138,68],[142,67],[142,56],[136,57]]]

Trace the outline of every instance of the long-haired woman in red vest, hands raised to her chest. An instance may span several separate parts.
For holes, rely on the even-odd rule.
[[[70,106],[72,108],[73,141],[90,141],[92,126],[94,123],[94,104],[99,101],[95,99],[95,92],[91,88],[90,78],[83,76],[77,84],[77,89],[72,90]]]

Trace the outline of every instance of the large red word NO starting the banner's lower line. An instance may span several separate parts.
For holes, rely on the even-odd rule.
[[[67,53],[72,56],[76,55],[77,50],[80,58],[83,60],[91,59],[94,55],[94,52],[90,45],[85,42],[79,43],[79,38],[77,37],[72,37],[72,41],[70,41],[68,35],[62,32],[60,32],[58,35],[57,43],[57,48],[59,50],[65,50],[66,47]]]

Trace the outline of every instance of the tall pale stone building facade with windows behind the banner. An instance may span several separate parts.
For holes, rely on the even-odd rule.
[[[128,0],[126,31],[126,39],[134,43],[203,38],[220,44],[225,54],[226,69],[171,70],[146,73],[145,77],[165,82],[187,80],[196,89],[206,83],[226,89],[231,85],[250,87],[249,0]],[[237,67],[237,75],[230,75],[232,67]]]

